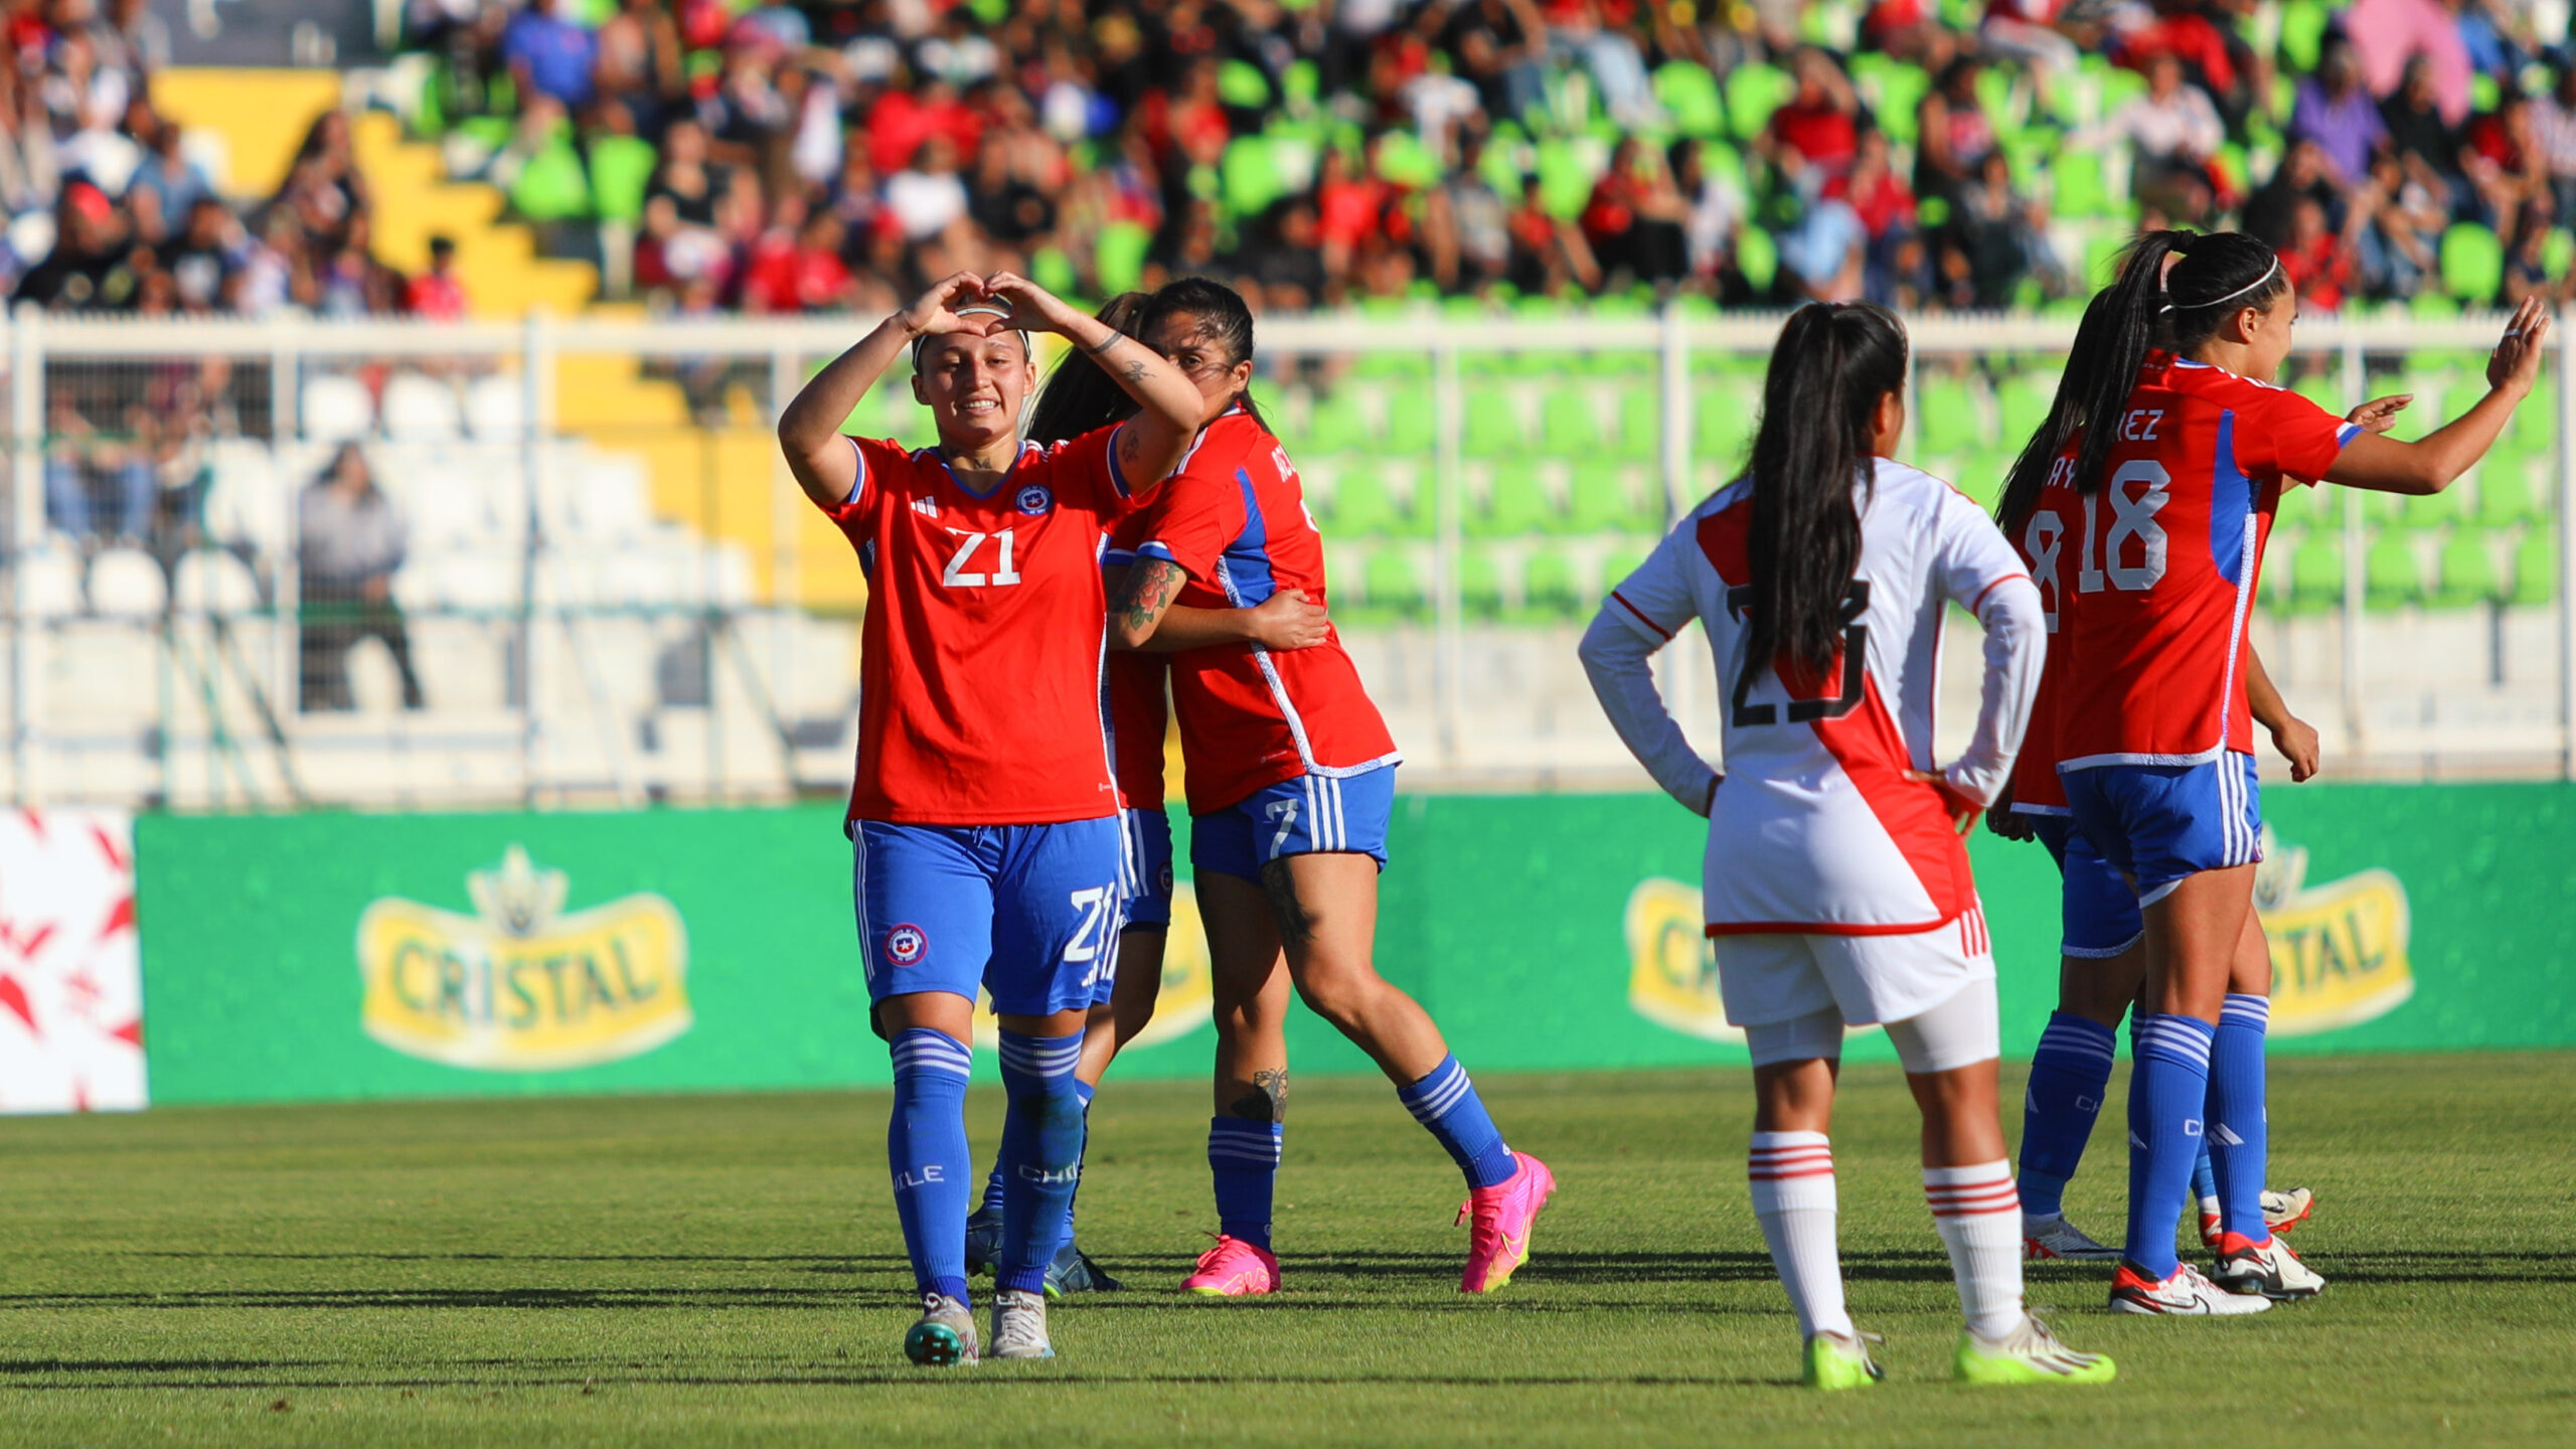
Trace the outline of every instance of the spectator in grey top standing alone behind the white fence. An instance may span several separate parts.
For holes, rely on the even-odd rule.
[[[394,500],[376,487],[358,443],[340,443],[322,477],[296,500],[296,580],[301,590],[301,706],[355,709],[348,650],[376,637],[402,673],[402,706],[420,709],[412,639],[394,603],[394,570],[404,526]]]

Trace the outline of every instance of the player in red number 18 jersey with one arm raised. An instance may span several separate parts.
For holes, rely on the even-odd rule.
[[[2537,304],[2517,309],[2488,394],[2401,443],[2370,428],[2403,397],[2347,420],[2272,387],[2295,317],[2280,258],[2254,237],[2146,232],[2110,299],[2087,309],[2045,423],[2063,446],[2030,539],[2058,606],[2058,779],[2076,830],[2143,913],[2117,1312],[2257,1312],[2324,1287],[2262,1214],[2269,951],[2254,920],[2244,637],[2280,490],[2450,487],[2530,394],[2550,325]],[[2218,1284],[2174,1253],[2202,1137],[2223,1214]]]

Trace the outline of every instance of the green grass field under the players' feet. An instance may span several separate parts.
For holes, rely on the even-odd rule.
[[[1383,1083],[1301,1083],[1285,1289],[1172,1289],[1213,1227],[1198,1088],[1110,1080],[1084,1245],[1133,1284],[1054,1364],[902,1361],[884,1093],[0,1122],[0,1444],[2352,1444],[2576,1434],[2576,1055],[2275,1062],[2275,1181],[2331,1289],[2233,1323],[2032,1302],[2102,1390],[1945,1382],[1955,1299],[1893,1070],[1837,1124],[1891,1382],[1795,1387],[1744,1201],[1744,1073],[1494,1075],[1561,1194],[1499,1297]],[[2017,1101],[2017,1073],[2007,1088]],[[989,1152],[999,1098],[976,1093]],[[2014,1122],[2017,1127],[2017,1122]],[[2069,1209],[2110,1235],[2112,1129]]]

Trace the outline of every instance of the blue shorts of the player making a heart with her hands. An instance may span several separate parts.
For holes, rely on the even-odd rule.
[[[945,990],[1010,1016],[1090,1006],[1115,972],[1118,817],[1064,825],[891,825],[853,833],[868,1006]]]

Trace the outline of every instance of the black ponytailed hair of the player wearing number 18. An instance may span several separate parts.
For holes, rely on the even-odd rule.
[[[2074,436],[2074,482],[2081,492],[2102,492],[2110,449],[2117,441],[2110,420],[2128,407],[2148,348],[2190,353],[2218,335],[2239,309],[2272,307],[2290,289],[2272,248],[2244,232],[2141,232],[2120,253],[2120,278],[2094,294],[2076,327],[2074,351],[2048,420],[2022,446],[1996,500],[1994,518],[2012,536],[2048,485],[2048,469]],[[2102,423],[2099,428],[2094,423]]]

